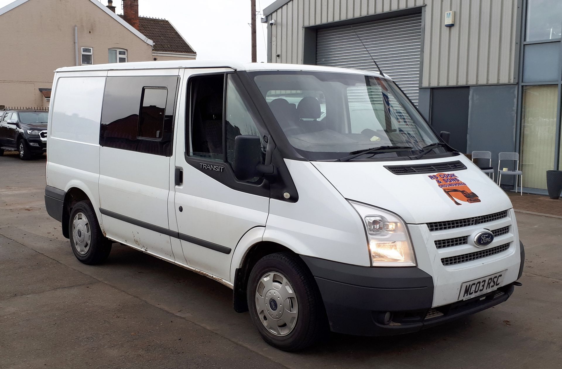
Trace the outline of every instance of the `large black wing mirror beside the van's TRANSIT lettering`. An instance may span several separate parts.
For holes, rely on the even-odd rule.
[[[258,136],[236,136],[234,139],[234,176],[238,181],[250,181],[273,173],[273,165],[261,164],[261,141]]]

